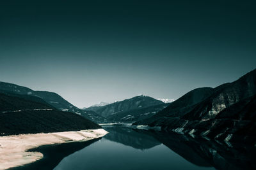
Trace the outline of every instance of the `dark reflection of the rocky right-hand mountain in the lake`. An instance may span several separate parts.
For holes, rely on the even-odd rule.
[[[198,166],[232,170],[256,169],[253,162],[256,153],[254,146],[220,143],[167,132],[149,133],[184,159]]]

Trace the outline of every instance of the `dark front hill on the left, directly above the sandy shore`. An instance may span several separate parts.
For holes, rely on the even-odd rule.
[[[0,93],[0,136],[100,128],[80,115],[56,110],[40,100]]]

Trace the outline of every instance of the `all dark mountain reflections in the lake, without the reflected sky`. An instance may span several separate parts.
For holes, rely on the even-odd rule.
[[[170,148],[170,152],[172,150],[196,166],[228,170],[256,169],[256,163],[253,162],[256,153],[255,146],[246,146],[243,145],[243,143],[220,143],[219,141],[192,138],[191,136],[184,136],[182,134],[141,131],[127,127],[104,127],[104,129],[106,129],[109,134],[103,138],[109,141],[115,141],[116,143],[121,143],[140,150],[150,149],[163,143]],[[14,169],[53,169],[64,157],[89,146],[97,140],[99,139],[81,143],[40,146],[31,151],[42,152],[44,159]],[[168,148],[166,149],[168,150]],[[92,150],[92,152],[94,151]],[[111,152],[108,153],[111,155]],[[106,157],[102,157],[102,160],[105,159]],[[70,164],[72,164],[72,162],[70,162]]]

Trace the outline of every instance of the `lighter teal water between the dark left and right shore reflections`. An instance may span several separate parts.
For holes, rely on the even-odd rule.
[[[55,170],[214,169],[211,164],[194,164],[173,152],[156,138],[156,132],[134,131],[127,127],[105,129],[109,134],[65,157]]]

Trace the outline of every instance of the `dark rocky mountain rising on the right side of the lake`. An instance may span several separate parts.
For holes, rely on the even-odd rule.
[[[154,117],[134,125],[160,126],[166,131],[189,133],[225,141],[255,142],[256,69],[239,80],[207,89],[195,89]]]

